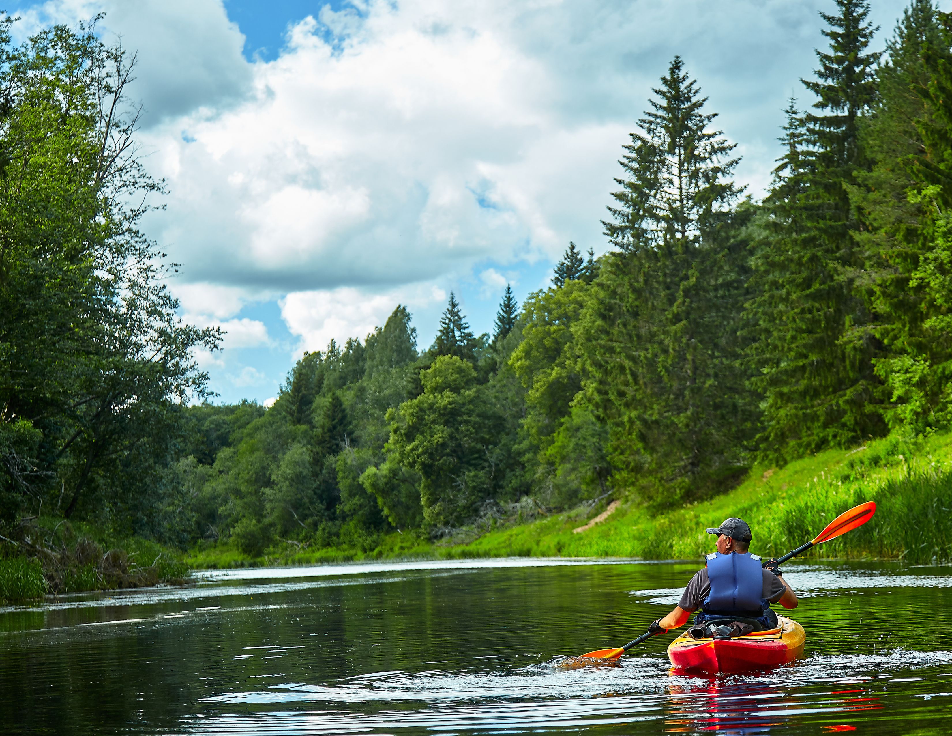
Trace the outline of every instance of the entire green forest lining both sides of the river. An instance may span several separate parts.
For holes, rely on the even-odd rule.
[[[109,114],[134,110],[121,54],[5,37],[0,533],[372,554],[607,500],[667,513],[755,463],[948,428],[952,16],[913,0],[880,53],[868,13],[823,14],[763,201],[675,57],[620,142],[605,255],[570,243],[492,334],[451,294],[425,348],[397,307],[305,354],[271,408],[196,404],[189,350],[219,335],[177,320],[136,229],[129,195],[161,187]]]

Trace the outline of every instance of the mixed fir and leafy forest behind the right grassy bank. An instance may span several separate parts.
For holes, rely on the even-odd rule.
[[[952,18],[914,0],[880,54],[867,3],[835,6],[804,80],[816,102],[791,99],[762,202],[675,57],[623,149],[604,256],[569,244],[521,307],[506,288],[491,335],[450,295],[422,352],[398,307],[306,354],[272,408],[169,408],[177,459],[123,503],[149,480],[149,528],[182,546],[370,550],[621,495],[675,507],[756,461],[948,427]],[[40,496],[74,506],[77,471],[43,467]]]

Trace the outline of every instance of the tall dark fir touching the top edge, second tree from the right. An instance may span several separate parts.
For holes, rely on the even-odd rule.
[[[875,31],[864,0],[836,0],[822,13],[827,51],[817,51],[818,98],[802,118],[788,117],[774,189],[766,200],[768,234],[755,260],[759,296],[748,316],[764,394],[761,447],[774,459],[842,447],[883,432],[883,400],[874,360],[882,344],[863,292],[862,228],[848,187],[869,168],[860,140],[862,116],[876,100],[868,50]]]

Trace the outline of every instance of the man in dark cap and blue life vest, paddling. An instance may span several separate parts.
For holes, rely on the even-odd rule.
[[[720,527],[706,531],[717,534],[717,551],[707,555],[706,567],[691,578],[678,606],[649,630],[662,633],[682,627],[699,607],[701,612],[695,619],[698,624],[742,618],[757,621],[764,629],[776,627],[777,614],[770,604],[796,608],[798,603],[777,561],[770,560],[762,567],[761,558],[747,551],[752,535],[743,519],[731,517]]]

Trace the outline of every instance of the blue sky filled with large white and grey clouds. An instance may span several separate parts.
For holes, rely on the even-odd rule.
[[[944,3],[941,4],[944,8]],[[50,0],[21,35],[105,11],[138,58],[149,235],[181,264],[183,315],[217,401],[266,401],[305,349],[363,337],[398,303],[432,341],[450,290],[492,328],[506,283],[545,287],[599,221],[627,133],[675,54],[759,197],[786,98],[832,0]],[[898,0],[877,2],[887,34]]]

